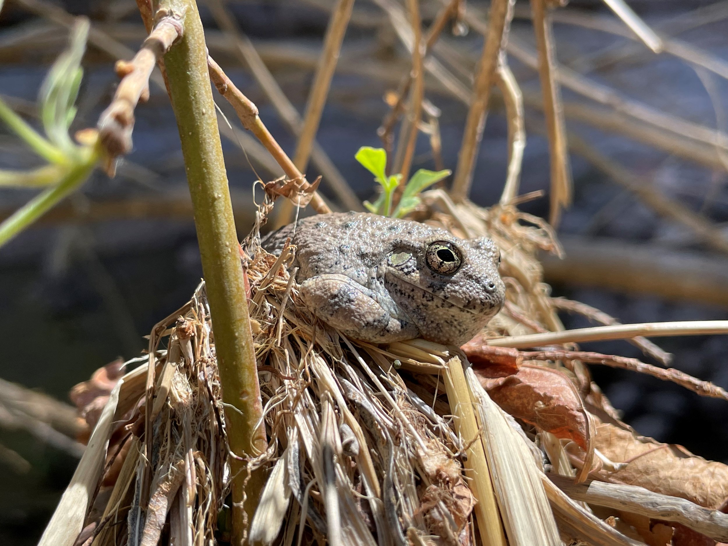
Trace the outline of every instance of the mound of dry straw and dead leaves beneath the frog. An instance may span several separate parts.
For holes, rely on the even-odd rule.
[[[424,202],[422,221],[461,236],[489,234],[502,248],[507,304],[462,348],[421,339],[377,347],[314,323],[296,305],[288,265],[295,248],[276,258],[256,247],[256,237],[248,240],[269,438],[268,449],[247,462],[251,470],[269,468],[250,543],[728,540],[728,515],[719,510],[728,498],[726,465],[620,422],[576,347],[487,345],[498,336],[562,329],[556,312],[564,302],[550,298],[536,258],[539,249],[558,252],[547,226],[513,205],[454,205],[438,190]],[[127,363],[141,365],[124,376],[116,363],[76,388],[87,422],[96,425],[84,462],[100,471],[98,481],[90,479],[82,462],[71,484],[96,491],[77,544],[229,539],[232,454],[204,285],[152,336],[151,347],[166,345],[151,359],[154,374],[144,357]],[[154,389],[145,394],[148,377]],[[143,434],[149,422],[153,432]]]

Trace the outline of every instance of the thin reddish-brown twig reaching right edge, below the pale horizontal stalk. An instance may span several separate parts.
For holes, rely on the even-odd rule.
[[[519,357],[523,360],[580,360],[583,363],[601,364],[611,368],[636,371],[637,373],[645,373],[648,376],[662,379],[662,381],[672,381],[700,396],[728,400],[728,392],[710,381],[702,381],[676,368],[659,368],[652,364],[646,364],[636,358],[603,355],[601,352],[561,350],[521,351]]]

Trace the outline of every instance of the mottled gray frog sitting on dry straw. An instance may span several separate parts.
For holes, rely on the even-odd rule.
[[[503,306],[500,252],[487,237],[462,240],[424,223],[331,213],[285,226],[263,247],[280,254],[288,237],[298,248],[293,265],[304,304],[354,339],[461,345]],[[440,242],[451,252],[438,253]]]

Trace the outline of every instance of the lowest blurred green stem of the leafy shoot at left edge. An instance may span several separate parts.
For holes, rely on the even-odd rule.
[[[30,226],[42,215],[47,213],[61,199],[73,193],[91,175],[92,170],[98,162],[99,154],[96,149],[90,150],[86,161],[80,162],[60,179],[52,188],[41,191],[15,211],[6,221],[0,224],[0,246],[11,240],[23,229]]]

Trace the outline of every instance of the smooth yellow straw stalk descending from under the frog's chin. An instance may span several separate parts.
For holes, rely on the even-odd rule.
[[[474,403],[471,400],[470,387],[463,371],[463,363],[458,357],[447,362],[447,370],[443,373],[445,389],[450,403],[450,411],[454,416],[455,430],[467,446],[464,467],[466,475],[472,481],[470,488],[478,500],[475,505],[475,517],[483,546],[505,546],[505,534],[496,503],[493,483],[491,482],[488,460],[483,446],[480,428],[475,417]],[[469,472],[468,472],[469,471]]]

